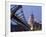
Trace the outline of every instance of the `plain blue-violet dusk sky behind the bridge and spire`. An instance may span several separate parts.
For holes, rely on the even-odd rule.
[[[11,6],[11,8],[13,6]],[[29,16],[31,16],[32,13],[37,21],[39,22],[42,21],[42,7],[41,6],[23,5],[22,7],[23,7],[22,9],[23,9],[24,16],[27,21],[29,19]],[[18,10],[17,12],[20,12],[20,10]]]

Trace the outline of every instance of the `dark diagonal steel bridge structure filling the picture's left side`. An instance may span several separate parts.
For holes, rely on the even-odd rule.
[[[22,5],[11,5],[11,32],[14,31],[29,31],[30,26],[28,25]]]

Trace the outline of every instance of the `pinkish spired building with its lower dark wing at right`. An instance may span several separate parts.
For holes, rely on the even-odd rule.
[[[41,30],[42,29],[42,24],[35,21],[35,18],[34,18],[33,14],[31,14],[31,16],[29,17],[28,24],[30,25],[30,30],[31,31],[36,31],[36,30]]]

